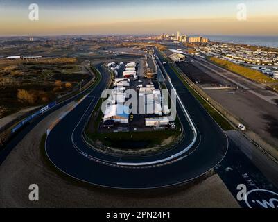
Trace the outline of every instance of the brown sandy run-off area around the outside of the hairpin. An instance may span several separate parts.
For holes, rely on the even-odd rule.
[[[64,180],[45,164],[40,140],[70,105],[41,121],[1,164],[0,207],[239,207],[217,175],[193,187],[159,191],[119,191]],[[33,183],[40,188],[37,202],[28,200]]]

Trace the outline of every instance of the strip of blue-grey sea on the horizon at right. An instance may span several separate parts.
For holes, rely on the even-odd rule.
[[[278,48],[278,36],[207,35],[211,41]]]

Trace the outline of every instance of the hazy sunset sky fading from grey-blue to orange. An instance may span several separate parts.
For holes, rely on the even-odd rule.
[[[39,21],[28,6],[37,3]],[[247,21],[238,21],[238,3]],[[0,35],[278,35],[277,0],[0,0]]]

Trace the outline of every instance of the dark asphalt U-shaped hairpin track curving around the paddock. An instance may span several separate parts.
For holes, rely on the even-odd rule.
[[[48,132],[46,154],[60,171],[92,185],[148,189],[193,180],[223,160],[228,146],[225,133],[168,64],[164,65],[164,69],[182,102],[182,105],[177,103],[177,113],[185,132],[182,142],[164,153],[142,157],[117,157],[87,146],[82,139],[85,123],[110,80],[105,68],[101,65],[96,68],[101,72],[101,82]],[[171,89],[171,83],[166,78],[168,89]],[[191,119],[186,117],[182,106]],[[191,120],[196,134],[189,123]]]

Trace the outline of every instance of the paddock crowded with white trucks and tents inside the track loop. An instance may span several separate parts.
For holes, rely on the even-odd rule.
[[[114,71],[115,75],[112,92],[107,99],[107,107],[98,128],[100,132],[174,129],[174,123],[168,119],[170,112],[164,104],[157,79],[144,76],[144,59],[112,62],[107,64],[107,67]],[[130,90],[134,94],[130,94]],[[128,103],[131,100],[132,103]]]

